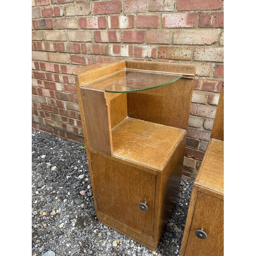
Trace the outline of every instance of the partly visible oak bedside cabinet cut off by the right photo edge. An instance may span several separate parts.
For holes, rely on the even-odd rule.
[[[224,87],[195,179],[180,256],[224,254]]]

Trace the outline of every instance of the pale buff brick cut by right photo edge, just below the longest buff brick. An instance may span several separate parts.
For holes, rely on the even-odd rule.
[[[223,47],[195,47],[194,60],[223,62]]]

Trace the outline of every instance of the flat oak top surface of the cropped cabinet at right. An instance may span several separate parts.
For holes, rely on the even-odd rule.
[[[210,139],[194,184],[224,195],[224,141]]]

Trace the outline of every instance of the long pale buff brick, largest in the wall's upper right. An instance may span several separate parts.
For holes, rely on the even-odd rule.
[[[176,30],[173,36],[175,45],[215,45],[219,39],[219,31],[200,30]]]

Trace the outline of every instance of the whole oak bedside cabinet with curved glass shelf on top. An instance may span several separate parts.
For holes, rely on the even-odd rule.
[[[130,60],[73,71],[97,218],[151,250],[179,194],[195,72]]]

